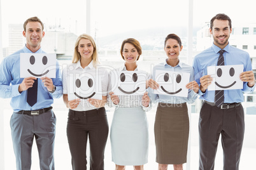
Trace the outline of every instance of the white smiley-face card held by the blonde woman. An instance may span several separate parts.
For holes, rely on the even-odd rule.
[[[70,68],[68,68],[70,69]],[[101,77],[96,70],[86,72],[68,71],[68,100],[80,98],[82,103],[89,98],[102,100]]]

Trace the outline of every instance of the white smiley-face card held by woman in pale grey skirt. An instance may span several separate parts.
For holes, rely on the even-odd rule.
[[[146,92],[146,72],[116,71],[111,72],[111,91],[114,95],[144,95]]]

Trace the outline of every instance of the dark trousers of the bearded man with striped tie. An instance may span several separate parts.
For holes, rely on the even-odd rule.
[[[245,114],[242,105],[220,109],[203,103],[199,117],[200,170],[214,169],[220,134],[224,170],[238,170],[245,134]]]

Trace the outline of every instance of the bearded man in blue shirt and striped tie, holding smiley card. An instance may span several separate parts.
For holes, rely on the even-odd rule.
[[[224,151],[224,169],[238,170],[245,133],[245,115],[241,102],[243,93],[252,93],[255,78],[252,63],[247,52],[229,44],[232,32],[231,19],[225,14],[218,14],[211,19],[210,33],[213,45],[194,58],[194,75],[200,84],[199,95],[203,100],[199,117],[199,169],[214,169],[218,138],[222,134]],[[218,61],[219,60],[219,61]],[[208,91],[213,81],[207,75],[208,66],[243,65],[239,75],[243,89]]]

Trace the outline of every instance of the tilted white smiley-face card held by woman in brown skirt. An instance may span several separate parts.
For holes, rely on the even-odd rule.
[[[159,84],[158,89],[154,89],[153,93],[159,95],[171,95],[187,97],[190,73],[172,72],[166,70],[155,70],[154,80]]]

